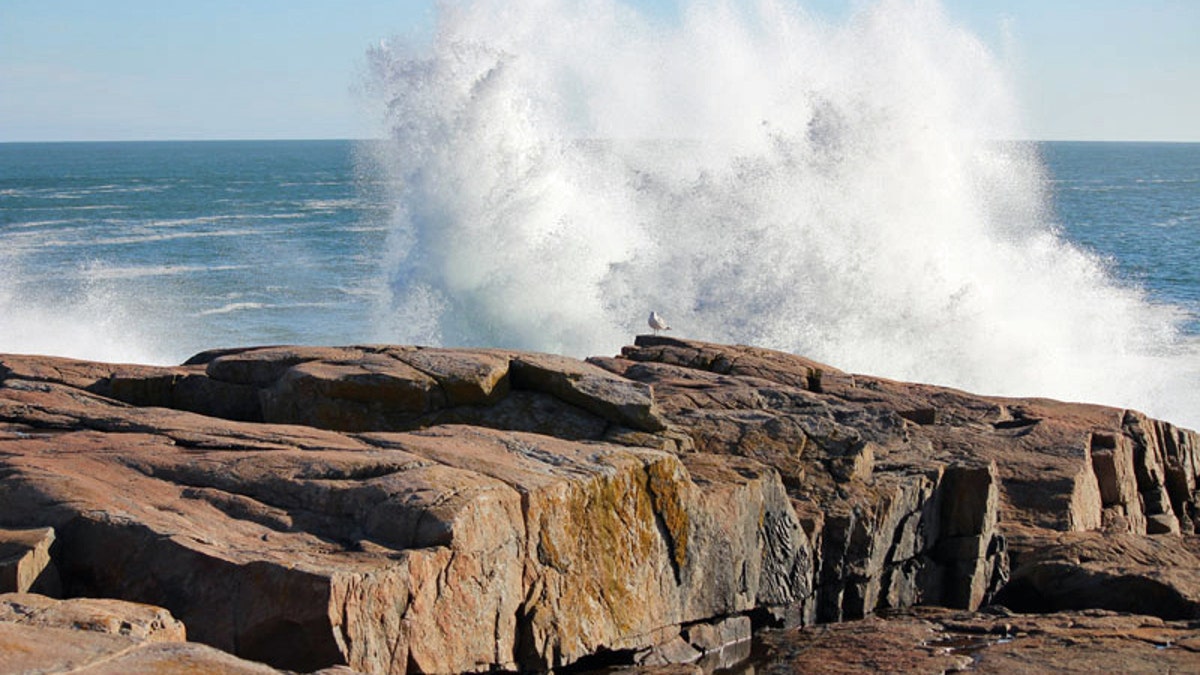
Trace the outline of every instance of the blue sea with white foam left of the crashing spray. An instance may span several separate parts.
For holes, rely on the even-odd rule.
[[[0,144],[0,350],[178,363],[376,338],[391,207],[359,156],[348,141]]]

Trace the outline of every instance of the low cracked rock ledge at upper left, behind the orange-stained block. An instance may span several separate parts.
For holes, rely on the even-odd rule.
[[[82,386],[136,406],[337,431],[434,424],[600,438],[612,426],[662,431],[649,389],[550,354],[424,347],[217,350],[180,368],[14,359],[13,376]],[[556,420],[578,418],[574,425]]]

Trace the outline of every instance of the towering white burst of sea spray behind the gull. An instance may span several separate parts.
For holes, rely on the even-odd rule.
[[[448,4],[371,52],[402,342],[612,353],[680,335],[1200,425],[1200,356],[1056,231],[1002,64],[935,2],[649,20]]]

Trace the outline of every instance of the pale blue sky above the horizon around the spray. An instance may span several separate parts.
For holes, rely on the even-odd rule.
[[[434,1],[0,0],[0,142],[377,136],[366,50],[432,34]],[[1030,138],[1200,142],[1200,0],[942,4],[1013,72]]]

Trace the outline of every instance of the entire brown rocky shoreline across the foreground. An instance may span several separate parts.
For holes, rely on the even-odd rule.
[[[0,663],[1200,668],[1198,478],[1134,411],[659,336],[6,354]]]

